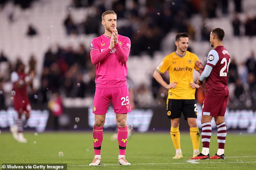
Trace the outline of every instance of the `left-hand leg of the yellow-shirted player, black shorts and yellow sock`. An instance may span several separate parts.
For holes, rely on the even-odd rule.
[[[182,109],[182,100],[167,99],[167,117],[171,119],[170,135],[172,143],[176,150],[176,154],[173,159],[183,158],[181,147],[180,147],[180,116]]]

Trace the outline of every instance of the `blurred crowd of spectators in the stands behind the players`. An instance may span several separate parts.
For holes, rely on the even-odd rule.
[[[1,1],[4,4],[5,1]],[[19,1],[24,8],[29,8],[32,0]],[[15,2],[16,2],[15,1]],[[233,35],[247,36],[256,35],[256,16],[247,17],[246,20],[239,19],[239,13],[243,12],[242,0],[233,0],[235,11],[233,12]],[[27,4],[23,4],[23,2]],[[108,3],[107,3],[108,2]],[[188,32],[190,39],[195,37],[195,28],[190,24],[189,19],[193,14],[201,14],[204,23],[206,18],[217,17],[216,10],[221,9],[225,16],[231,11],[228,10],[229,0],[73,0],[72,8],[90,8],[90,14],[79,23],[76,23],[71,13],[63,20],[63,26],[67,35],[103,33],[101,26],[101,14],[105,10],[113,9],[118,14],[118,33],[131,39],[132,48],[130,57],[146,53],[153,56],[153,53],[160,50],[163,38],[169,32]],[[242,35],[241,25],[245,28]],[[27,36],[38,34],[36,26],[29,25]],[[203,24],[199,40],[208,41],[210,30]],[[197,39],[198,40],[198,39]],[[31,55],[27,69],[35,70],[37,65],[43,65],[42,73],[36,73],[37,86],[29,91],[32,104],[47,104],[50,96],[60,92],[61,96],[69,98],[92,97],[95,91],[95,66],[90,61],[90,51],[86,50],[84,44],[77,49],[73,46],[54,45],[44,54],[44,62],[38,63],[37,57]],[[10,73],[14,70],[16,63],[11,63],[8,54],[4,49],[0,53],[0,107],[6,108],[10,94],[4,89],[4,84],[10,84]],[[163,56],[164,57],[164,56]],[[232,57],[232,56],[231,56]],[[245,63],[236,63],[232,59],[229,66],[229,86],[231,107],[251,107],[256,102],[256,58],[254,51],[246,56]],[[18,57],[16,62],[22,61]],[[168,75],[164,74],[168,82]],[[134,102],[136,107],[151,107],[165,105],[167,90],[159,86],[152,77],[151,87],[141,84],[133,86]],[[202,102],[204,88],[197,90],[198,102]]]

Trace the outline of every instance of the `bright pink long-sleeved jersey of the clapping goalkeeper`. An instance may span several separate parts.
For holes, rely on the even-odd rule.
[[[128,37],[118,35],[119,43],[109,49],[111,37],[101,35],[92,39],[90,56],[96,65],[95,83],[97,88],[113,88],[126,85],[128,55],[131,41]]]

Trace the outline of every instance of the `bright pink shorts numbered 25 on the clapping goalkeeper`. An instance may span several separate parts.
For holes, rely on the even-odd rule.
[[[111,99],[115,113],[122,114],[131,111],[128,87],[122,86],[115,88],[96,88],[92,113],[96,115],[106,114]]]

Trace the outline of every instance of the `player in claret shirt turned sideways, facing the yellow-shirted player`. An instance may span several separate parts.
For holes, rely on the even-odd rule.
[[[230,56],[227,49],[222,46],[224,35],[223,29],[213,29],[210,33],[210,43],[214,49],[208,54],[206,67],[204,68],[199,61],[196,61],[196,66],[204,70],[199,79],[197,79],[197,84],[200,85],[203,80],[206,80],[206,96],[204,98],[201,117],[203,148],[198,156],[190,159],[225,159],[224,146],[227,127],[225,125],[224,115],[229,97],[227,81]],[[212,117],[214,117],[218,130],[218,151],[214,156],[210,157],[209,146],[212,136]]]

